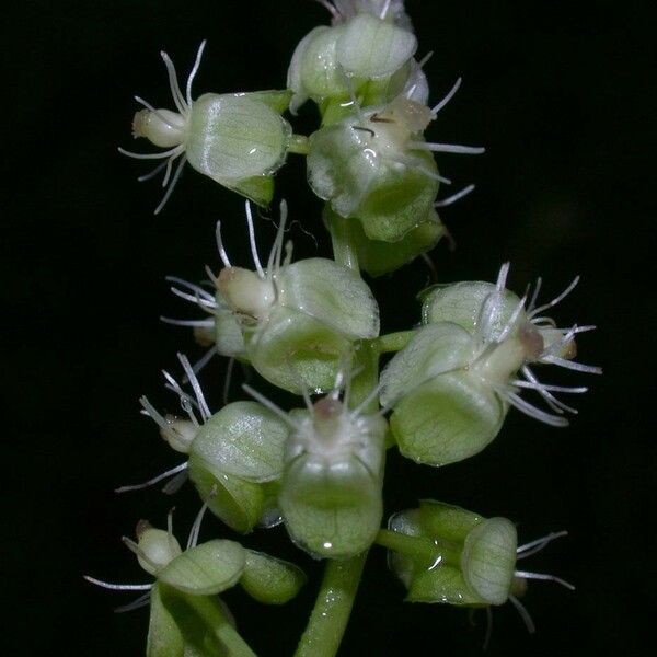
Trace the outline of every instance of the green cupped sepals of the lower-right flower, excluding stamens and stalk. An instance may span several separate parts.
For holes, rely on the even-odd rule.
[[[406,586],[408,601],[474,607],[506,602],[517,550],[516,528],[506,518],[486,520],[459,507],[424,500],[419,509],[393,516],[389,527],[435,545],[433,563],[411,553],[390,553],[390,566]]]

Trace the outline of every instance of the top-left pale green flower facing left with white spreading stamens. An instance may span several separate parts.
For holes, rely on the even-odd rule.
[[[177,112],[155,110],[140,101],[146,108],[135,114],[134,137],[145,137],[168,150],[140,155],[122,149],[125,154],[138,159],[165,161],[161,168],[166,166],[164,182],[170,186],[155,212],[166,203],[186,161],[224,187],[258,205],[268,205],[274,194],[272,174],[281,166],[287,155],[292,131],[280,114],[287,108],[291,92],[206,93],[192,101],[192,81],[204,47],[205,42],[198,49],[185,95],[178,87],[171,59],[162,53]],[[172,164],[178,157],[180,163],[171,176]]]

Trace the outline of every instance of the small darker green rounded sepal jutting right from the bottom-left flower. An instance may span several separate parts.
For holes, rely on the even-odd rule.
[[[295,564],[246,550],[240,586],[258,602],[285,604],[297,596],[304,584],[306,575]]]

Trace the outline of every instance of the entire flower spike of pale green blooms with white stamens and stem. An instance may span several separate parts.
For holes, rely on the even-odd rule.
[[[173,494],[188,479],[203,506],[186,549],[173,537],[171,516],[166,531],[140,522],[137,541],[125,543],[155,581],[113,585],[88,578],[105,588],[146,591],[125,609],[150,606],[149,657],[253,655],[218,595],[238,585],[270,604],[297,595],[304,583],[297,566],[242,544],[280,523],[295,545],[326,562],[299,655],[335,654],[366,555],[376,544],[388,549],[407,600],[486,609],[510,600],[530,631],[533,623],[519,601],[527,581],[552,579],[573,588],[517,567],[518,560],[565,532],[518,546],[510,520],[431,500],[393,514],[387,525],[383,520],[388,449],[431,466],[463,461],[499,434],[511,406],[566,426],[566,415],[576,411],[557,395],[586,388],[545,383],[539,368],[600,369],[574,360],[576,336],[593,326],[562,328],[545,314],[578,279],[539,304],[540,279],[531,296],[507,289],[508,263],[495,283],[433,286],[420,293],[422,311],[408,331],[381,334],[379,307],[361,272],[381,276],[426,256],[446,232],[438,210],[474,188],[439,200],[450,181],[439,173],[435,153],[484,149],[427,137],[461,81],[429,104],[427,58],[415,57],[417,39],[402,0],[319,1],[331,24],[300,41],[285,90],[193,100],[205,42],[184,90],[162,53],[175,108],[155,108],[137,97],[143,108],[134,117],[132,134],[164,150],[120,149],[162,160],[140,178],[164,171],[168,189],[155,212],[185,162],[246,197],[252,260],[247,266],[231,261],[218,222],[218,258],[205,268],[208,279],[169,278],[172,291],[203,316],[164,321],[192,327],[207,350],[194,366],[178,355],[184,378],[164,372],[177,413],[158,411],[146,396],[140,403],[184,460],[143,484],[118,489],[169,480],[164,491]],[[290,122],[309,101],[321,123],[309,136],[296,135]],[[287,205],[280,201],[274,243],[261,261],[251,201],[270,205],[274,174],[290,152],[307,158],[309,186],[324,201],[332,258],[293,261],[292,242],[286,241]],[[390,353],[380,371],[381,357]],[[258,392],[260,383],[242,385],[251,399],[232,400],[227,384],[222,406],[210,411],[199,376],[214,356],[228,359],[229,372],[239,361],[262,384],[279,389],[281,399],[297,395],[298,403],[279,406]],[[198,543],[207,510],[240,541]]]

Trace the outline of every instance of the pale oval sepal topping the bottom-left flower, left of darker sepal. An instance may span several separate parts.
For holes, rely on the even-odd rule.
[[[191,596],[214,596],[238,583],[245,563],[240,543],[208,541],[172,560],[158,572],[158,580]]]

